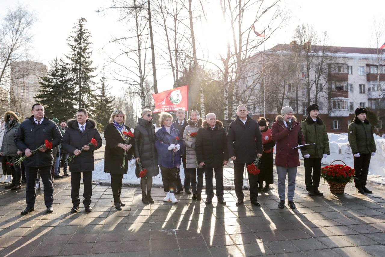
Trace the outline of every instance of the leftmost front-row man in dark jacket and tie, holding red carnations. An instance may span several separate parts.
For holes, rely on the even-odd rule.
[[[45,140],[52,142],[56,147],[62,141],[62,134],[52,120],[44,116],[44,107],[40,103],[32,106],[32,116],[24,120],[17,130],[14,141],[18,149],[25,153],[25,174],[27,176],[27,208],[21,212],[22,215],[35,210],[36,179],[37,172],[40,173],[44,184],[44,203],[47,213],[54,211],[54,187],[52,185],[51,167],[54,157],[52,150],[47,147],[39,148]],[[32,150],[39,150],[32,154]]]

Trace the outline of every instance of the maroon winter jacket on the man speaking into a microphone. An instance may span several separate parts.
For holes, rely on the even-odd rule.
[[[298,149],[293,147],[299,144],[305,144],[303,134],[301,131],[300,123],[293,116],[291,118],[291,124],[293,128],[288,130],[283,123],[283,117],[277,115],[273,126],[271,127],[271,137],[276,144],[275,165],[283,167],[296,167],[300,166],[300,159],[298,158]]]

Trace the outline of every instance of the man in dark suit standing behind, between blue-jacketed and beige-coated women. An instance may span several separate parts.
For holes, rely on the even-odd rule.
[[[179,109],[176,111],[176,118],[177,120],[172,123],[174,128],[179,130],[179,135],[183,135],[184,128],[187,127],[187,121],[186,121],[186,112],[184,112],[183,109]],[[186,194],[191,194],[190,191],[190,174],[186,172],[186,151],[184,151],[182,156],[182,163],[183,163],[183,169],[184,169],[184,190],[186,191]],[[182,181],[181,176],[179,176],[180,169],[178,169],[177,173],[177,180],[176,180],[176,191],[175,194],[180,194],[183,191],[182,188]]]

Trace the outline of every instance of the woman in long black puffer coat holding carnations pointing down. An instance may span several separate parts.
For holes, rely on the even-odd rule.
[[[152,177],[159,174],[158,157],[155,148],[155,126],[152,125],[152,112],[149,109],[142,111],[142,118],[138,118],[138,125],[134,130],[136,160],[136,177],[139,178],[139,162],[147,169],[146,176],[141,178],[142,202],[154,203],[151,198]],[[146,195],[147,187],[147,195]]]

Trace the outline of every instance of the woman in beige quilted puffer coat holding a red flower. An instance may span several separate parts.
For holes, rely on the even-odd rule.
[[[185,176],[190,176],[191,188],[192,188],[192,200],[200,201],[202,199],[203,188],[203,166],[198,164],[195,152],[195,140],[198,129],[202,127],[203,120],[199,117],[197,110],[192,110],[189,113],[189,119],[187,120],[186,128],[183,132],[183,141],[186,145],[186,167],[187,172],[184,172]],[[198,188],[196,175],[198,174]]]

